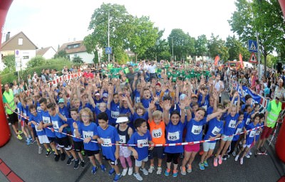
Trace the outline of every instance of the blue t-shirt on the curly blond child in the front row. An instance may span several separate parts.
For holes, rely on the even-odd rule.
[[[93,137],[95,135],[98,136],[97,124],[95,124],[94,122],[90,122],[90,124],[86,126],[81,122],[78,125],[78,132],[81,134],[81,137],[83,139]],[[91,141],[88,142],[88,144],[83,142],[84,149],[89,150],[89,151],[98,151],[99,150],[98,144],[92,141],[97,141],[97,140],[92,139]]]

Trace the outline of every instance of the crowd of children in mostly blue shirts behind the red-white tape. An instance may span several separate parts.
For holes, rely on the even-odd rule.
[[[219,73],[207,77],[190,74],[184,80],[174,80],[173,75],[167,76],[162,70],[160,78],[147,82],[143,71],[135,72],[131,65],[129,70],[127,75],[120,75],[128,78],[123,86],[116,77],[102,78],[96,74],[93,78],[71,80],[68,85],[33,85],[32,92],[17,94],[15,102],[27,144],[36,141],[38,154],[44,147],[46,157],[53,153],[55,161],[64,161],[67,155],[67,165],[74,163],[74,168],[85,167],[84,153],[93,166],[93,174],[98,166],[106,171],[105,159],[110,164],[108,173],[115,173],[113,181],[127,173],[138,181],[142,181],[140,173],[153,171],[157,175],[164,171],[165,176],[172,173],[173,177],[179,171],[186,175],[192,172],[192,165],[196,165],[193,161],[201,149],[197,164],[201,170],[211,165],[209,159],[213,155],[213,166],[218,166],[227,155],[232,154],[235,161],[239,159],[243,164],[244,156],[252,154],[264,114],[259,113],[259,105],[253,104],[250,95],[233,92],[231,100],[220,103],[224,84]],[[245,97],[244,105],[241,97]],[[250,132],[239,134],[249,129]],[[202,147],[199,143],[151,146],[201,140],[210,141]],[[180,156],[183,159],[178,167]],[[165,158],[167,167],[163,169]],[[148,159],[150,164],[146,165]]]

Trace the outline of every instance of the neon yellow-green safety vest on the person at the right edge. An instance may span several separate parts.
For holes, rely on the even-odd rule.
[[[279,102],[278,105],[276,105],[275,100],[272,100],[270,103],[271,103],[271,109],[267,115],[266,123],[267,123],[267,127],[274,128],[276,124],[276,120],[279,117],[279,113],[281,112],[282,103]]]

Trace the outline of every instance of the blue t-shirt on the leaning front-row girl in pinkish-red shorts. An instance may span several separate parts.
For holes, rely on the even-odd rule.
[[[199,122],[195,121],[195,119],[190,119],[190,122],[187,122],[187,133],[185,137],[185,141],[200,141],[202,139],[202,128],[203,125],[207,123],[207,119],[204,118]]]

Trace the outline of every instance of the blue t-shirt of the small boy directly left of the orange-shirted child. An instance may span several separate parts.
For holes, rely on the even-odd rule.
[[[152,138],[150,136],[150,131],[147,130],[146,134],[143,134],[140,136],[138,132],[135,132],[128,141],[128,144],[138,144],[138,146],[133,146],[135,151],[138,152],[138,161],[142,161],[142,159],[145,159],[148,156],[148,146],[141,146],[148,144],[148,141],[152,141]]]

